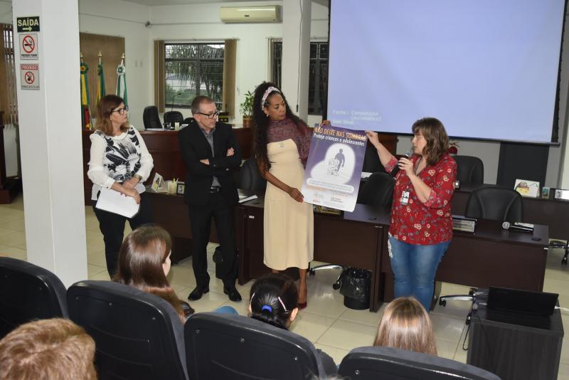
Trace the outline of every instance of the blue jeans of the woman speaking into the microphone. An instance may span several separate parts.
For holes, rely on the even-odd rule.
[[[417,298],[427,312],[430,310],[435,286],[435,273],[450,241],[420,246],[398,241],[389,236],[391,270],[395,276],[395,298]]]

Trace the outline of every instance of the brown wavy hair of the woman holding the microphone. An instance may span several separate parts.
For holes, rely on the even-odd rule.
[[[427,144],[423,149],[422,155],[427,160],[427,164],[435,165],[449,149],[449,137],[445,126],[435,117],[423,117],[413,123],[413,134],[421,132]]]

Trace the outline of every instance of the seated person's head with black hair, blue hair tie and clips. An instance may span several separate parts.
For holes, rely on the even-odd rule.
[[[270,273],[255,281],[250,292],[250,317],[288,329],[298,313],[297,285],[287,275]]]

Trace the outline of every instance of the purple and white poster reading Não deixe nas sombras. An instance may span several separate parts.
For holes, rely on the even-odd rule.
[[[314,128],[302,195],[309,204],[353,211],[368,137],[363,131],[320,125]]]

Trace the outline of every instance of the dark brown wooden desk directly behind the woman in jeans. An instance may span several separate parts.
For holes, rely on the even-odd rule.
[[[534,241],[532,237],[540,240]],[[454,231],[435,281],[541,291],[546,275],[548,237],[548,226],[536,225],[531,234],[506,231],[499,221],[481,219],[475,233]],[[383,300],[390,301],[393,300],[393,274],[387,243],[382,252],[385,253],[381,260],[381,273],[385,278]],[[440,287],[436,288],[438,296]]]

